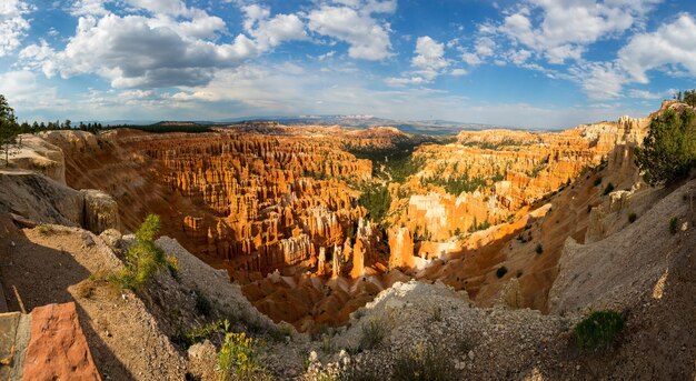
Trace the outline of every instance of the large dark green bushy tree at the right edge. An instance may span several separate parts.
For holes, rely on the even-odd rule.
[[[667,110],[653,118],[643,147],[636,149],[636,164],[647,183],[672,183],[696,167],[695,121],[692,110]]]

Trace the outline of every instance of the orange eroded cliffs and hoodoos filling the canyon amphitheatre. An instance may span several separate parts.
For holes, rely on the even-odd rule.
[[[505,299],[515,278],[518,307],[545,310],[563,241],[584,239],[587,204],[600,203],[593,171],[606,160],[633,181],[633,147],[646,127],[623,118],[549,133],[461,132],[454,143],[420,146],[412,154],[419,170],[388,186],[382,225],[358,199],[385,181],[347,150],[411,139],[391,128],[250,123],[46,139],[66,152],[69,186],[116,198],[122,230],[160,214],[162,233],[227,269],[260,311],[314,330],[345,323],[409,278],[441,280],[484,305]],[[509,273],[496,277],[504,264]]]

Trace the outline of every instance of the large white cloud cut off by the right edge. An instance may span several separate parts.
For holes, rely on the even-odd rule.
[[[696,76],[696,22],[689,14],[663,24],[655,32],[636,34],[618,52],[618,60],[630,78],[648,83],[647,71],[668,64],[680,66]]]

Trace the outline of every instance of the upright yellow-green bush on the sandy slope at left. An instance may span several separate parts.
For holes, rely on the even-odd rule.
[[[111,277],[121,287],[140,290],[160,269],[176,262],[155,244],[158,232],[159,217],[149,214],[136,232],[136,243],[128,249],[123,269]]]

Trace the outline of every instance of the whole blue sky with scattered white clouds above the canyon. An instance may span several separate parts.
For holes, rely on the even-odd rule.
[[[696,88],[693,0],[1,0],[21,120],[370,114],[530,129]]]

